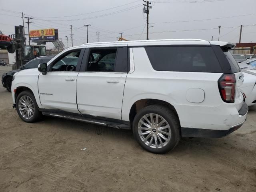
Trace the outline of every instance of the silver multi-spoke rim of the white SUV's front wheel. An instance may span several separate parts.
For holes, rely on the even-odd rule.
[[[21,116],[25,119],[31,119],[35,113],[33,100],[29,96],[22,96],[18,102],[18,108]]]

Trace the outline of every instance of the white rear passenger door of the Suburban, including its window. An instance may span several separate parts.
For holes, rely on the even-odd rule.
[[[76,83],[78,110],[84,116],[121,120],[127,54],[127,45],[86,48]]]

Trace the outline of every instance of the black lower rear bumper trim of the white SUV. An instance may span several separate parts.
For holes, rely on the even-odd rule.
[[[229,128],[228,130],[213,130],[213,129],[201,129],[201,128],[181,128],[182,137],[203,137],[203,138],[220,138],[227,136],[228,134],[238,130],[245,122],[246,115],[248,113],[248,106],[243,102],[242,108],[238,111],[242,122]]]

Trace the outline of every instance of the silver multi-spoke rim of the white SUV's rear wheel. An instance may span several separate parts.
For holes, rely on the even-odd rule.
[[[150,113],[140,118],[138,134],[144,144],[158,149],[170,142],[171,128],[162,116]]]

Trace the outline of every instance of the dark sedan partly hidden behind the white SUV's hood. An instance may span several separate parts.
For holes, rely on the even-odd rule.
[[[40,63],[47,63],[50,61],[54,56],[42,56],[42,57],[37,57],[29,62],[27,62],[25,65],[21,66],[20,69],[12,70],[7,73],[4,73],[2,75],[2,84],[3,86],[11,92],[11,86],[12,86],[12,77],[16,72],[19,72],[20,70],[25,70],[25,69],[32,69],[32,68],[37,68],[38,64]]]

